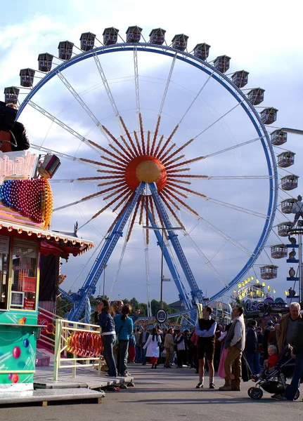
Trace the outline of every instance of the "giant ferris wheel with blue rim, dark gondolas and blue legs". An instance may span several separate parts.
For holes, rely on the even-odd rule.
[[[149,286],[162,250],[188,312],[219,300],[262,253],[278,200],[266,126],[278,110],[259,109],[264,89],[244,88],[248,72],[228,73],[231,58],[209,52],[205,43],[191,50],[185,34],[168,45],[161,28],[146,41],[140,27],[125,39],[111,27],[102,42],[84,33],[79,48],[61,41],[58,57],[39,54],[39,71],[21,69],[18,119],[32,148],[65,164],[51,180],[53,223],[75,218],[78,235],[103,239],[72,318],[110,258],[113,286],[125,259]],[[18,102],[19,89],[5,88],[6,102]]]

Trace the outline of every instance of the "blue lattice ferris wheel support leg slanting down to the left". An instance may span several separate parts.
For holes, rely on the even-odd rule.
[[[112,254],[113,250],[115,249],[115,246],[117,245],[118,240],[123,235],[123,229],[125,225],[127,224],[127,220],[129,219],[129,216],[131,215],[131,212],[134,210],[134,206],[136,205],[138,199],[140,198],[144,187],[146,186],[145,182],[141,182],[140,185],[136,188],[136,192],[133,196],[133,199],[131,199],[131,202],[127,206],[126,210],[124,210],[124,213],[122,213],[119,220],[117,220],[117,223],[115,227],[112,229],[112,232],[110,232],[110,235],[108,236],[107,241],[105,242],[103,248],[101,249],[101,252],[98,255],[98,258],[96,258],[96,262],[94,263],[94,266],[91,268],[91,272],[89,272],[89,276],[87,276],[86,281],[84,283],[84,286],[80,288],[79,290],[79,300],[78,302],[75,302],[74,307],[70,311],[70,314],[68,316],[69,320],[79,320],[82,316],[82,313],[84,312],[86,308],[86,297],[89,298],[91,295],[94,294],[96,290],[96,283],[100,279],[100,276],[103,272],[103,269],[105,265],[108,263],[108,259],[110,258],[110,255]]]

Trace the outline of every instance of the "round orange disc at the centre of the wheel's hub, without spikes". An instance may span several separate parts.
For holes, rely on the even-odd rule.
[[[160,192],[165,187],[167,173],[165,166],[155,156],[141,155],[136,156],[128,164],[125,170],[125,180],[132,190],[136,189],[141,181],[155,182]]]

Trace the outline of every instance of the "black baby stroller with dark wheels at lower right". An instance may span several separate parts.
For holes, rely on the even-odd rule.
[[[254,387],[250,387],[247,393],[252,399],[261,399],[262,389],[271,394],[283,394],[288,384],[286,377],[292,377],[295,368],[295,362],[290,356],[290,345],[285,345],[278,356],[278,361],[273,370],[265,370],[257,380]],[[295,395],[295,400],[299,398],[299,389]]]

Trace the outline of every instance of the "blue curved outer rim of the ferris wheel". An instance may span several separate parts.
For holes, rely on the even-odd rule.
[[[219,70],[217,70],[214,66],[210,65],[208,62],[200,60],[199,58],[196,58],[190,53],[185,53],[183,51],[176,50],[175,48],[169,46],[158,46],[155,44],[148,43],[121,43],[110,46],[101,46],[98,48],[94,48],[91,51],[86,51],[84,53],[79,53],[78,55],[75,55],[75,57],[70,58],[70,60],[66,60],[65,62],[58,65],[55,69],[51,70],[51,72],[46,74],[46,76],[44,76],[44,78],[41,79],[36,86],[34,86],[34,88],[26,96],[25,100],[23,100],[22,104],[20,105],[20,108],[18,109],[17,119],[19,118],[23,109],[25,109],[27,103],[30,102],[32,97],[39,91],[39,89],[41,89],[42,86],[45,85],[45,83],[50,81],[53,78],[53,76],[56,76],[56,74],[58,74],[59,72],[63,71],[64,69],[67,69],[67,67],[75,65],[77,62],[81,62],[82,60],[86,60],[86,58],[91,58],[94,55],[101,55],[104,53],[115,53],[121,51],[133,51],[134,47],[136,47],[137,51],[163,54],[172,58],[176,56],[178,60],[186,62],[188,65],[197,67],[198,69],[202,70],[202,72],[205,72],[206,74],[211,76],[214,80],[220,83],[221,86],[224,86],[224,88],[226,88],[226,91],[231,93],[231,95],[233,95],[233,98],[235,98],[238,101],[239,105],[243,108],[250,121],[252,122],[252,125],[254,126],[254,129],[256,130],[257,135],[262,142],[262,147],[266,156],[266,164],[269,173],[269,206],[267,208],[267,215],[264,228],[262,230],[262,234],[259,238],[257,246],[254,248],[252,256],[249,260],[247,260],[243,269],[238,273],[238,275],[236,275],[233,278],[232,281],[228,283],[226,287],[222,288],[221,290],[219,290],[218,293],[214,294],[211,298],[209,298],[209,302],[212,302],[224,295],[224,293],[226,293],[234,285],[236,285],[236,283],[238,283],[240,279],[243,279],[245,274],[247,274],[250,268],[254,265],[254,262],[256,262],[257,258],[259,257],[266,244],[266,241],[269,238],[269,234],[273,227],[273,221],[275,219],[276,208],[278,203],[278,171],[276,166],[276,156],[273,152],[273,147],[271,145],[269,134],[267,133],[266,127],[264,126],[264,123],[262,122],[257,110],[250,103],[250,101],[240,90],[240,88],[234,85],[231,79],[229,79],[225,74],[219,72]],[[262,132],[264,133],[263,135]]]

